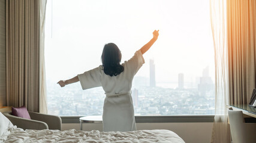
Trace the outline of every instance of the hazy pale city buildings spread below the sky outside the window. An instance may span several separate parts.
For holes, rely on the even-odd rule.
[[[203,69],[198,88],[184,88],[184,86],[179,88],[180,80],[184,82],[183,73],[177,75],[180,79],[176,83],[178,88],[152,87],[150,83],[147,85],[140,82],[141,80],[134,80],[131,95],[135,115],[214,114],[215,94],[208,72],[208,67]],[[143,78],[138,77],[138,79]],[[59,90],[60,87],[57,84],[47,82],[47,86],[50,87],[47,91],[49,114],[102,115],[105,98],[102,88],[82,91],[80,83],[76,83]],[[56,95],[56,92],[60,93]]]

